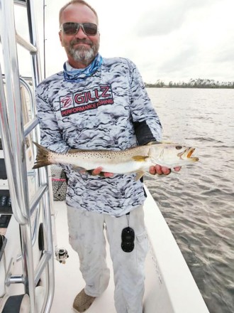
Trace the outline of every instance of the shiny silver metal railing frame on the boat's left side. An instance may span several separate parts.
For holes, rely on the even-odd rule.
[[[28,43],[16,33],[13,5],[21,4],[26,7],[28,14],[28,28],[30,42]],[[38,36],[35,25],[33,0],[13,1],[0,0],[0,26],[1,26],[1,46],[4,58],[4,80],[0,66],[0,130],[1,141],[4,149],[6,173],[11,193],[11,206],[13,216],[20,227],[21,253],[23,274],[11,275],[6,278],[6,285],[12,283],[23,283],[25,293],[30,297],[30,313],[37,313],[35,304],[35,287],[40,277],[45,272],[45,299],[40,312],[50,312],[52,298],[54,294],[54,260],[52,245],[52,223],[51,223],[51,194],[50,183],[48,181],[47,169],[35,170],[35,181],[37,191],[30,200],[28,194],[29,172],[26,164],[26,137],[32,134],[33,140],[38,141],[39,129],[38,118],[35,115],[35,103],[33,91],[40,83],[40,56],[38,51]],[[31,55],[33,90],[27,82],[21,80],[18,69],[17,42],[26,48]],[[21,85],[25,85],[29,90],[31,105],[31,120],[27,124],[23,123]],[[4,88],[5,87],[5,88]],[[38,265],[34,265],[33,260],[33,234],[31,216],[35,211],[39,216],[42,211],[43,226],[46,231],[45,249]],[[36,218],[36,224],[38,218]],[[33,230],[35,233],[35,230]]]

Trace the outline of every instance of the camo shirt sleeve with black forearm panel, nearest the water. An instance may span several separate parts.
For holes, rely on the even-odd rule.
[[[162,125],[147,95],[143,79],[135,64],[128,60],[130,68],[130,108],[138,144],[160,142]]]

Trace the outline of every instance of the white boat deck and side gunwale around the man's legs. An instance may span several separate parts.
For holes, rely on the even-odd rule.
[[[147,191],[147,189],[146,189]],[[74,312],[74,297],[84,287],[79,272],[79,258],[68,243],[67,209],[64,202],[55,202],[55,223],[58,248],[65,248],[69,258],[61,264],[55,261],[55,297],[51,313]],[[145,260],[145,297],[143,313],[208,313],[196,282],[182,256],[174,237],[160,213],[154,199],[147,191],[144,205],[145,225],[150,249]],[[108,243],[107,263],[110,270],[112,261]],[[113,272],[107,290],[95,299],[89,313],[114,313]]]

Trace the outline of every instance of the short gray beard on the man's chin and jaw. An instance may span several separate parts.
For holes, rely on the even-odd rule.
[[[82,63],[84,65],[89,65],[92,60],[96,57],[99,51],[99,47],[92,46],[89,50],[87,48],[69,48],[69,54],[74,58],[76,62]]]

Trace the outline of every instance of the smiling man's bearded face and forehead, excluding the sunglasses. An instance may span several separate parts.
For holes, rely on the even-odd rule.
[[[94,23],[97,25],[97,18],[88,6],[70,4],[62,12],[60,22],[61,24],[74,22]],[[94,60],[99,51],[99,32],[94,36],[88,36],[82,30],[82,27],[79,27],[79,31],[74,35],[66,35],[63,31],[60,31],[59,35],[60,42],[65,47],[67,58],[72,66],[79,63],[79,67],[86,67]]]

